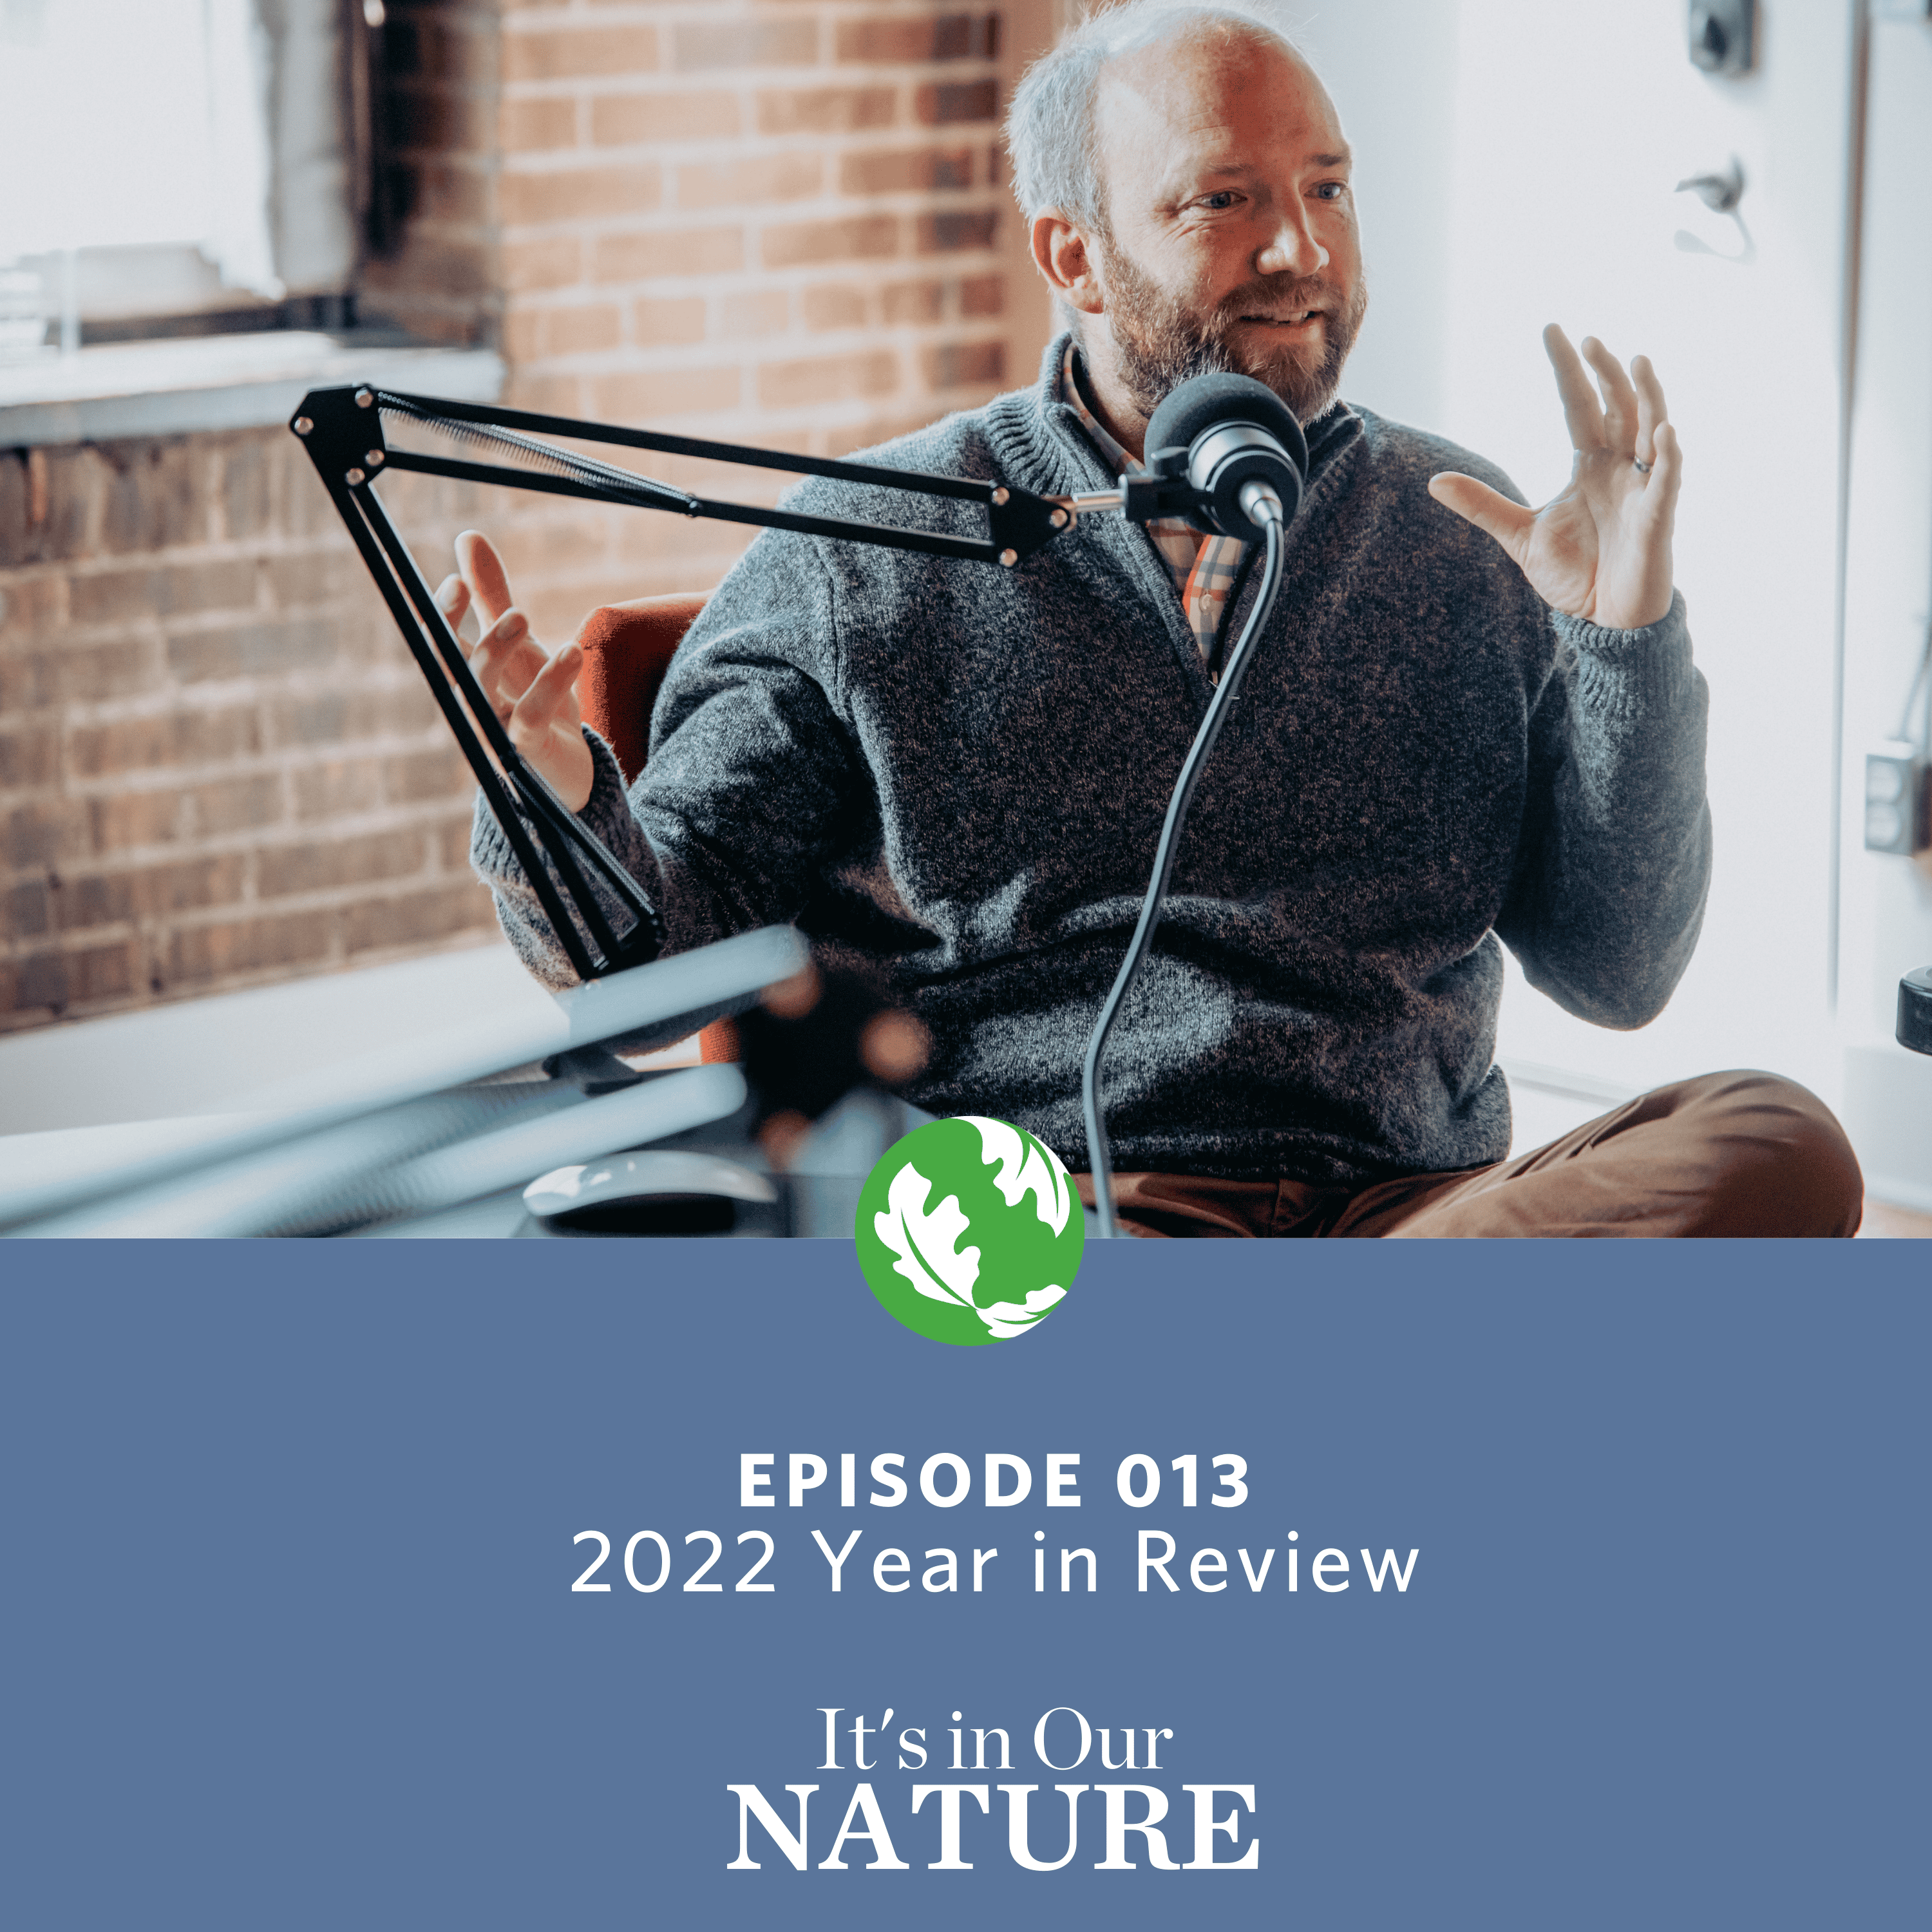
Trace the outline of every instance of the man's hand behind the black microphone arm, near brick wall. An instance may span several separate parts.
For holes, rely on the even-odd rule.
[[[572,811],[582,811],[597,773],[591,748],[583,742],[583,713],[578,709],[583,653],[566,643],[551,657],[537,643],[529,634],[529,618],[510,603],[502,558],[479,529],[466,529],[456,539],[456,574],[437,589],[437,605],[452,632],[471,603],[483,636],[466,645],[464,655],[483,696],[508,730],[510,744],[543,773],[551,790]]]

